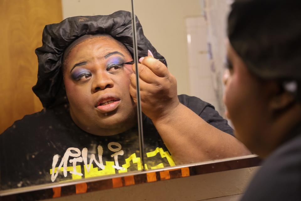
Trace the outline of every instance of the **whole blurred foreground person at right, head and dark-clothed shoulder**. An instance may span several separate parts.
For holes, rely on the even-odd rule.
[[[235,135],[264,159],[243,201],[301,200],[301,2],[237,0],[224,102]]]

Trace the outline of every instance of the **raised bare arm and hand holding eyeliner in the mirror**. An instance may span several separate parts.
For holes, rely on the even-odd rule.
[[[180,103],[177,81],[163,63],[152,56],[140,58],[140,62],[142,111],[154,123],[177,165],[251,154],[240,141]],[[130,93],[137,102],[134,74]]]

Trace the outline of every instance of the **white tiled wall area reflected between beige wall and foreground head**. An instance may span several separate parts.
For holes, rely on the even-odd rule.
[[[201,2],[203,16],[186,18],[190,94],[211,103],[224,116],[222,76],[230,1]]]

